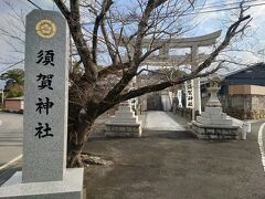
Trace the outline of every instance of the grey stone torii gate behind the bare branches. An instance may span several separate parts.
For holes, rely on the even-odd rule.
[[[208,54],[199,53],[199,48],[201,46],[210,46],[216,42],[216,39],[221,35],[221,30],[212,32],[210,34],[204,34],[201,36],[193,38],[180,38],[180,39],[157,39],[152,42],[151,39],[144,39],[142,50],[148,49],[150,43],[152,42],[152,46],[162,46],[159,49],[159,54],[149,55],[141,65],[153,65],[153,66],[179,66],[179,65],[191,65],[191,70],[195,70],[199,66],[200,62],[203,62]],[[119,38],[119,36],[116,36]],[[119,43],[119,46],[127,46],[129,50],[132,50],[131,46],[135,45],[135,41],[128,41],[127,36],[123,38],[123,42]],[[191,53],[186,53],[184,55],[170,55],[170,50],[176,49],[190,49]],[[132,53],[132,51],[130,52]],[[193,96],[194,96],[194,105],[192,112],[192,119],[194,119],[195,111],[201,114],[201,91],[200,91],[200,78],[193,80]]]

